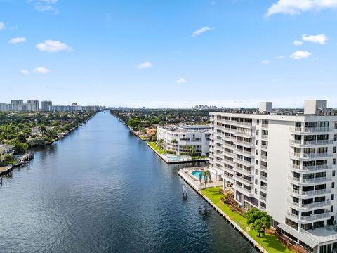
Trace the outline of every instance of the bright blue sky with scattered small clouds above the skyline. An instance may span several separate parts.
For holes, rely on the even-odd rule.
[[[0,0],[0,103],[337,107],[337,0]]]

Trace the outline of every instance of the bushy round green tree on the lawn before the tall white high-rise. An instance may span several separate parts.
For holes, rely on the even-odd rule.
[[[251,228],[258,232],[258,237],[261,234],[265,235],[265,231],[272,226],[272,216],[257,208],[249,209],[244,216],[247,218],[247,224],[251,225]]]

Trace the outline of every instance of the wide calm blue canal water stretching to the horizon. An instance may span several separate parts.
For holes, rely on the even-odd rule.
[[[0,252],[255,252],[110,113],[0,186]]]

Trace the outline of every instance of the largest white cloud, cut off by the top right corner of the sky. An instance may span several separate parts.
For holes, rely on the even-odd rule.
[[[268,8],[267,16],[277,13],[300,15],[303,11],[337,8],[337,0],[278,0]]]

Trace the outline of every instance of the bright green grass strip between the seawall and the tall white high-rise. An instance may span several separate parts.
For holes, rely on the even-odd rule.
[[[223,194],[219,192],[220,186],[216,188],[207,188],[207,190],[201,190],[201,192],[206,195],[215,205],[217,205],[225,214],[230,216],[230,218],[237,223],[244,231],[249,233],[251,237],[256,240],[262,247],[264,247],[267,252],[284,252],[284,253],[291,253],[292,251],[285,247],[282,242],[277,240],[275,235],[265,234],[262,238],[258,238],[257,232],[253,231],[252,229],[247,229],[249,226],[246,224],[246,218],[233,212],[227,204],[224,204],[220,201],[220,197],[223,197]]]

